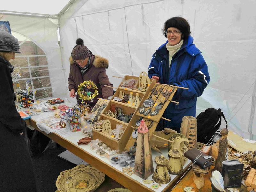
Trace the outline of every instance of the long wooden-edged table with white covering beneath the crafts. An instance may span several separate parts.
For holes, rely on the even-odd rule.
[[[89,145],[79,145],[77,144],[77,141],[83,137],[86,137],[81,131],[80,132],[72,132],[69,136],[63,137],[60,134],[53,132],[50,134],[46,134],[44,131],[41,131],[37,125],[36,122],[39,121],[42,117],[45,116],[51,116],[53,115],[52,112],[43,112],[40,115],[31,116],[31,119],[29,119],[29,123],[32,127],[34,127],[39,132],[43,133],[47,137],[54,140],[56,143],[60,144],[62,147],[66,148],[76,156],[80,157],[84,161],[88,162],[95,168],[99,169],[106,175],[108,175],[110,178],[115,180],[116,182],[123,185],[125,188],[128,188],[131,191],[170,191],[173,186],[179,181],[181,176],[171,175],[171,182],[168,184],[161,185],[160,188],[157,190],[153,190],[150,188],[150,186],[153,184],[144,184],[142,182],[142,178],[138,177],[135,174],[132,174],[129,176],[128,174],[125,174],[122,172],[122,168],[118,167],[118,165],[112,164],[110,159],[102,158],[98,156],[94,151],[92,151],[89,148]],[[168,158],[168,150],[162,149],[163,155]],[[152,150],[152,157],[153,162],[156,156],[160,156],[161,154]],[[185,170],[188,169],[191,161],[188,160],[187,163],[183,166]],[[154,170],[156,168],[156,163],[154,162]],[[64,171],[64,170],[63,170]],[[57,178],[56,178],[57,180]],[[152,175],[148,178],[148,180],[152,180]],[[55,182],[55,181],[52,181]]]

